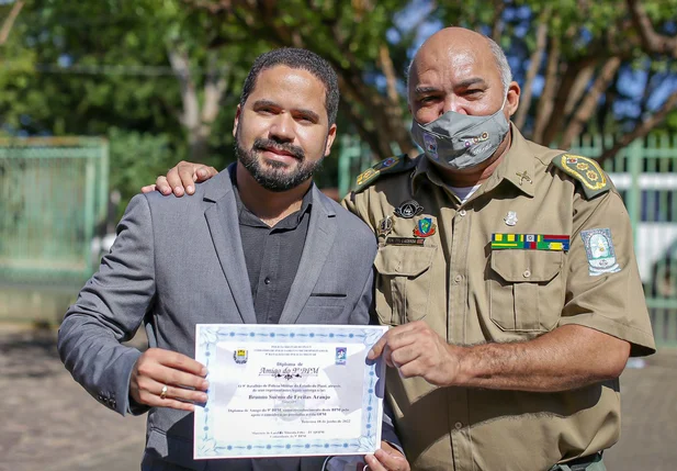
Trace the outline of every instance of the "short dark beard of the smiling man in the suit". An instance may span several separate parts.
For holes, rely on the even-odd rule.
[[[273,139],[258,137],[251,149],[245,150],[239,144],[239,133],[237,134],[235,155],[238,161],[249,171],[257,183],[269,191],[282,192],[296,188],[321,168],[323,159],[307,161],[301,147]],[[275,148],[292,154],[292,157],[297,160],[295,169],[290,170],[290,166],[281,161],[273,160],[263,164],[259,155],[267,148]]]

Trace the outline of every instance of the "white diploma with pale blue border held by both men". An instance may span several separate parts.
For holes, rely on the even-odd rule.
[[[381,446],[384,326],[199,324],[208,370],[195,459],[364,455]]]

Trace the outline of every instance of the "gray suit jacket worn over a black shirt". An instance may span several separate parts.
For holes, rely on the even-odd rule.
[[[368,324],[374,234],[315,186],[311,191],[308,233],[280,323]],[[194,357],[196,323],[256,322],[226,170],[198,184],[192,198],[154,192],[132,199],[111,253],[66,313],[58,349],[76,381],[99,402],[123,415],[140,414],[148,408],[128,396],[140,352],[121,341],[142,323],[151,347]],[[194,461],[192,424],[192,414],[150,408],[144,469],[298,467],[285,460]],[[384,430],[384,439],[396,441],[386,424]],[[319,469],[323,461],[307,458],[301,467]]]

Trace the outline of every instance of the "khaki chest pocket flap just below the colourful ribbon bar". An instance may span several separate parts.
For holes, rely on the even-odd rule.
[[[563,251],[493,250],[492,269],[504,280],[516,282],[548,282],[562,270]]]

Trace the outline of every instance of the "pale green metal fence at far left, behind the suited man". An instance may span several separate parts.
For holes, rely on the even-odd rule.
[[[98,263],[105,221],[108,143],[0,139],[0,281],[81,283]]]

